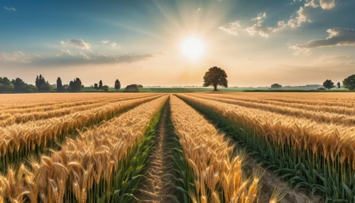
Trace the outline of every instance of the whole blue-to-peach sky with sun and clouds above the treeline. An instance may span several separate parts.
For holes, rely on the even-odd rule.
[[[354,0],[0,1],[0,77],[143,86],[342,82],[355,74]]]

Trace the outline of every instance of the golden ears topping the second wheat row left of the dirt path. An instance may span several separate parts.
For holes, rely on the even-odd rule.
[[[23,149],[35,150],[37,146],[45,148],[49,141],[55,141],[63,134],[75,132],[77,128],[94,124],[109,115],[158,97],[161,97],[161,95],[118,101],[58,118],[29,121],[26,124],[13,124],[0,128],[0,156],[4,156],[6,153],[18,153],[19,150]]]

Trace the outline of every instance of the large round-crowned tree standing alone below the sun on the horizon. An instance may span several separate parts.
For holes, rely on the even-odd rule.
[[[213,86],[214,91],[217,91],[217,86],[228,87],[228,80],[226,79],[226,72],[220,67],[214,66],[204,74],[203,87]]]

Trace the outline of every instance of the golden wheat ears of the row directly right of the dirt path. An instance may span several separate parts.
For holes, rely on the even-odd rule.
[[[171,118],[180,137],[185,158],[194,170],[193,202],[253,202],[261,172],[244,177],[244,155],[234,157],[234,146],[192,107],[176,97],[170,99]],[[220,199],[223,191],[224,199]]]

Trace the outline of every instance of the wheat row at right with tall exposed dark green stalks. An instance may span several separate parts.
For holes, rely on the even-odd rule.
[[[178,97],[231,131],[295,187],[323,194],[327,201],[354,201],[354,127],[316,124],[186,94]]]

